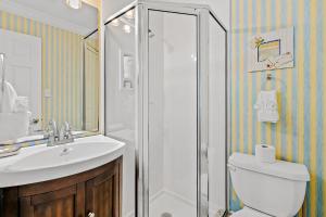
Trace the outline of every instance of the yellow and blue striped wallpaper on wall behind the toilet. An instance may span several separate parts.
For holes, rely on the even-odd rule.
[[[326,11],[325,0],[231,0],[231,152],[254,153],[256,143],[276,146],[277,158],[303,163],[311,182],[298,216],[326,216]],[[296,67],[272,71],[280,90],[278,124],[256,120],[253,104],[266,72],[246,73],[252,35],[294,26]],[[231,188],[231,187],[230,187]],[[241,207],[231,190],[230,208]]]

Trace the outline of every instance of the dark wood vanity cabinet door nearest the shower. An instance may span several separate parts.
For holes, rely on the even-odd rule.
[[[86,182],[86,216],[120,217],[120,167],[116,165]]]

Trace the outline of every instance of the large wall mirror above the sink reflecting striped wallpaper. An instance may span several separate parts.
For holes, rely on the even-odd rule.
[[[98,9],[70,2],[0,4],[0,143],[41,139],[50,120],[99,130]]]

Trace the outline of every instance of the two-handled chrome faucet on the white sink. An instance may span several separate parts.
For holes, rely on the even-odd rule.
[[[58,129],[55,120],[49,122],[49,126],[45,138],[48,139],[48,146],[55,146],[59,144],[74,142],[72,129],[67,122],[64,123],[60,131]]]

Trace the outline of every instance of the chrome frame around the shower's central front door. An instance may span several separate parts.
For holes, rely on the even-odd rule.
[[[175,14],[183,14],[183,15],[191,15],[196,17],[196,27],[197,27],[197,56],[200,60],[203,54],[201,49],[201,36],[200,31],[202,28],[202,9],[198,8],[186,8],[185,4],[179,3],[158,3],[158,2],[139,2],[138,4],[138,21],[140,22],[138,26],[138,63],[139,63],[139,88],[142,92],[139,92],[138,95],[139,100],[139,111],[142,113],[138,113],[141,126],[139,126],[139,145],[138,146],[138,154],[139,154],[139,177],[138,177],[138,217],[150,217],[149,216],[149,13],[150,11],[156,11],[162,13],[175,13]],[[197,62],[197,216],[205,216],[202,215],[202,210],[208,209],[208,207],[203,207],[203,204],[208,204],[208,196],[204,199],[201,190],[201,154],[200,151],[204,150],[203,145],[208,144],[208,142],[201,142],[202,140],[202,131],[201,131],[201,98],[199,97],[202,91],[200,91],[200,87],[208,87],[208,85],[200,84],[199,81],[205,80],[201,79],[202,74],[200,72],[206,72],[204,68],[205,64],[201,64],[200,61]],[[142,111],[142,112],[141,112]],[[208,192],[206,194],[208,195]],[[202,203],[202,200],[205,200],[206,203]]]

